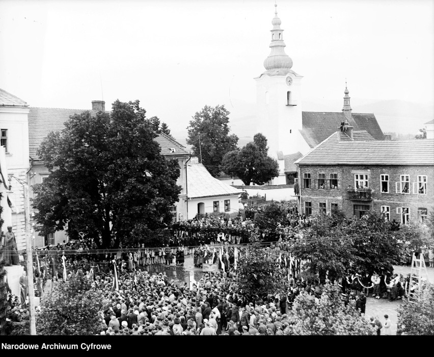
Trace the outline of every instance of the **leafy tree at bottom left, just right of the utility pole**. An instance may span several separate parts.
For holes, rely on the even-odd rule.
[[[71,273],[41,300],[38,335],[95,335],[100,331],[101,296],[82,270]]]

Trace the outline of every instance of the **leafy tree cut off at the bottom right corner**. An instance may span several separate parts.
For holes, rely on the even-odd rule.
[[[427,284],[417,296],[399,305],[398,327],[405,335],[434,335],[434,285]]]

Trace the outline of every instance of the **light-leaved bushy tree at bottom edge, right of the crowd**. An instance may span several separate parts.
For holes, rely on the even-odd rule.
[[[289,313],[291,335],[375,335],[364,317],[356,310],[354,301],[345,307],[340,289],[324,286],[321,298],[306,292],[294,300]]]

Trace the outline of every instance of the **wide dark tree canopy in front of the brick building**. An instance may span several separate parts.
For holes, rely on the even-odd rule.
[[[353,269],[369,273],[381,273],[393,269],[399,262],[401,241],[405,237],[416,239],[417,228],[392,231],[389,221],[382,215],[368,212],[361,218],[341,220],[341,214],[315,217],[312,226],[290,245],[290,250],[299,258],[308,260],[306,274],[319,274],[323,281],[342,276],[352,264]],[[399,238],[401,240],[399,240]]]

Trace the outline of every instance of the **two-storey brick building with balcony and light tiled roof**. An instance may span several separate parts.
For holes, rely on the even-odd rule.
[[[348,134],[348,135],[347,135]],[[348,216],[384,212],[405,224],[434,209],[434,140],[379,141],[352,127],[296,161],[299,211]]]

